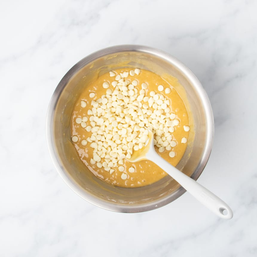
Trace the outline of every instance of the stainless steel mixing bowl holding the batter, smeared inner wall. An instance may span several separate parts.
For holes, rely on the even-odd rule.
[[[62,78],[51,98],[46,122],[48,148],[59,175],[80,197],[96,206],[117,212],[143,212],[169,204],[184,192],[170,176],[149,186],[122,188],[95,177],[80,161],[71,143],[71,114],[77,97],[92,80],[112,68],[137,67],[178,78],[189,111],[189,143],[177,168],[197,180],[212,149],[212,108],[201,83],[183,63],[155,48],[118,45],[90,54]]]

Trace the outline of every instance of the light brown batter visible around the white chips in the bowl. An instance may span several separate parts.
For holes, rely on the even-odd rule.
[[[116,74],[123,73],[124,71],[130,71],[131,68],[127,69],[119,69],[115,70],[114,72]],[[141,84],[146,83],[147,88],[145,89],[145,94],[150,97],[150,91],[155,91],[158,94],[163,94],[163,96],[166,99],[170,100],[170,105],[168,106],[171,111],[170,113],[174,113],[176,115],[175,119],[179,121],[179,124],[175,126],[175,131],[171,132],[172,134],[172,141],[176,142],[176,146],[173,146],[171,150],[165,150],[164,152],[159,152],[158,148],[155,146],[156,152],[160,154],[161,157],[163,157],[166,161],[171,163],[173,166],[176,166],[180,159],[182,158],[186,146],[187,146],[187,140],[189,137],[189,118],[188,113],[186,110],[186,107],[183,103],[183,100],[179,96],[178,92],[175,90],[175,88],[172,85],[178,84],[178,81],[176,78],[171,77],[169,82],[164,80],[162,77],[158,76],[157,74],[141,70],[140,74],[135,74],[134,76],[129,75],[127,78],[124,78],[127,80],[130,80],[131,82],[133,80],[138,81],[138,85],[134,88],[137,88],[138,91],[140,91]],[[71,120],[71,135],[74,137],[77,137],[78,141],[73,142],[75,148],[77,149],[77,152],[79,154],[80,159],[82,162],[88,167],[88,169],[98,178],[114,184],[116,186],[121,187],[139,187],[139,186],[146,186],[149,184],[152,184],[161,178],[165,177],[167,174],[164,172],[160,167],[158,167],[155,163],[152,163],[148,160],[142,160],[137,163],[130,163],[127,159],[124,159],[124,164],[121,166],[124,166],[124,171],[119,171],[118,167],[113,167],[115,171],[113,171],[112,174],[110,174],[109,171],[104,170],[104,168],[98,168],[96,163],[91,164],[90,160],[93,158],[93,148],[90,147],[90,142],[87,143],[86,146],[82,145],[82,140],[86,140],[88,137],[91,137],[92,132],[87,131],[86,128],[83,128],[81,124],[77,124],[76,119],[82,118],[82,117],[88,117],[88,110],[92,109],[91,101],[97,100],[101,98],[102,95],[106,94],[106,88],[103,88],[103,82],[108,82],[110,84],[109,88],[114,90],[114,87],[111,85],[111,82],[115,81],[115,76],[110,77],[109,73],[103,74],[100,76],[96,81],[92,82],[90,85],[88,85],[84,92],[79,96],[77,103],[74,107],[74,112],[72,115]],[[164,90],[158,91],[158,85],[163,85]],[[170,93],[165,93],[165,89],[170,88]],[[167,90],[168,92],[169,90]],[[93,98],[89,97],[89,94],[94,92],[95,96]],[[91,97],[94,94],[91,94]],[[86,102],[85,107],[81,107],[81,101]],[[142,102],[143,103],[143,102]],[[153,110],[153,108],[151,108]],[[88,120],[87,126],[90,125],[90,121]],[[185,129],[184,126],[186,126]],[[156,135],[154,135],[154,138]],[[181,143],[184,141],[184,143]],[[76,141],[76,140],[73,140]],[[186,142],[185,142],[186,141]],[[170,152],[175,152],[174,157],[170,157]],[[119,165],[120,166],[120,165]],[[129,172],[129,168],[133,167],[135,169],[134,172]],[[133,170],[133,169],[132,169]],[[122,174],[126,174],[125,176]],[[124,177],[126,179],[124,179]]]

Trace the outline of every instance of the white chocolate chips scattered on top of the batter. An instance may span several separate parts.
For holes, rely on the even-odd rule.
[[[93,148],[90,163],[110,174],[116,167],[120,172],[124,171],[124,159],[129,159],[134,150],[145,146],[148,129],[153,132],[154,145],[160,153],[176,146],[172,132],[179,125],[179,120],[171,112],[170,100],[160,93],[164,91],[169,94],[171,89],[164,89],[163,85],[159,85],[159,93],[150,91],[147,96],[147,82],[138,85],[136,79],[126,79],[129,75],[136,76],[140,72],[140,69],[120,74],[111,71],[110,77],[115,77],[115,80],[111,85],[103,82],[106,94],[91,101],[92,108],[88,110],[88,117],[76,119],[76,123],[91,132],[90,137],[81,141],[83,146],[89,142],[89,146]],[[95,93],[91,92],[89,96],[94,98]],[[85,101],[81,101],[81,107],[85,106]],[[184,126],[184,130],[188,131],[189,127]],[[72,137],[72,140],[77,142],[77,136]],[[183,137],[182,143],[186,142],[187,139]],[[170,151],[169,156],[175,157],[175,152]],[[129,168],[129,172],[134,171],[133,167]],[[123,173],[121,178],[126,179],[127,175]]]

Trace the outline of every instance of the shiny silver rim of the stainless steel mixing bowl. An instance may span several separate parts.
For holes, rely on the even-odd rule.
[[[103,57],[107,54],[115,54],[115,53],[126,52],[126,51],[149,53],[149,54],[158,56],[159,58],[162,58],[167,62],[170,62],[178,70],[180,70],[184,74],[184,76],[187,77],[187,79],[189,79],[189,81],[194,85],[195,89],[197,90],[198,95],[201,98],[202,104],[204,106],[205,116],[206,116],[206,146],[204,148],[201,161],[198,165],[198,169],[194,171],[193,174],[191,175],[191,178],[193,178],[194,180],[197,180],[201,175],[201,173],[203,172],[204,167],[206,166],[206,163],[209,160],[209,156],[211,154],[213,137],[214,137],[214,118],[213,118],[213,112],[212,112],[212,107],[211,107],[209,98],[206,94],[206,91],[202,87],[201,82],[198,80],[198,78],[193,74],[193,72],[186,65],[184,65],[177,58],[157,48],[152,48],[144,45],[131,45],[131,44],[115,45],[115,46],[103,48],[81,59],[64,75],[64,77],[57,85],[55,91],[53,92],[53,95],[51,97],[51,100],[48,106],[47,117],[46,117],[46,140],[48,145],[48,151],[50,153],[51,160],[57,172],[64,180],[64,182],[77,195],[79,195],[82,199],[86,200],[87,202],[106,210],[111,210],[115,212],[134,213],[134,212],[145,212],[145,211],[160,208],[179,198],[181,195],[183,195],[186,192],[186,190],[182,186],[180,186],[175,192],[169,194],[168,196],[162,198],[161,200],[159,199],[157,201],[153,201],[147,204],[142,204],[142,203],[133,204],[133,205],[130,205],[130,204],[126,205],[126,204],[120,204],[120,203],[116,204],[115,202],[111,203],[111,202],[107,202],[102,199],[96,198],[92,196],[90,193],[86,192],[85,190],[82,190],[78,186],[78,184],[71,178],[71,175],[69,175],[69,173],[62,167],[55,149],[55,143],[54,143],[53,133],[52,133],[52,125],[53,125],[53,118],[55,114],[56,105],[59,100],[59,96],[61,95],[62,91],[64,90],[70,78],[75,73],[77,73],[81,68],[83,68],[88,63],[94,61],[95,59]]]

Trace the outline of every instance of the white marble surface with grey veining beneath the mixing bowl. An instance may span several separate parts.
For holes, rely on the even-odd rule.
[[[257,256],[256,1],[1,1],[0,256]],[[95,207],[59,177],[45,139],[51,95],[89,53],[162,49],[202,82],[215,139],[199,182],[234,211],[188,193],[138,214]]]

